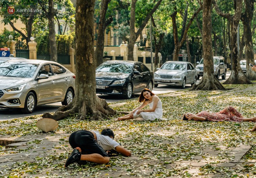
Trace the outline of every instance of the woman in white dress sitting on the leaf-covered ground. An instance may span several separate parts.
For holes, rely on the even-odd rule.
[[[135,108],[130,114],[118,117],[118,120],[136,119],[136,120],[155,120],[162,119],[163,109],[161,100],[149,89],[144,88],[140,93],[139,102],[143,102]],[[150,109],[142,109],[149,105]]]

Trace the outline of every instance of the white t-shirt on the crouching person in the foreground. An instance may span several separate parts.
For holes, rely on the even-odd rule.
[[[93,131],[96,134],[97,137],[97,143],[105,150],[111,150],[114,149],[115,147],[119,146],[120,144],[116,141],[114,141],[112,138],[109,136],[104,136],[101,135],[98,131]]]

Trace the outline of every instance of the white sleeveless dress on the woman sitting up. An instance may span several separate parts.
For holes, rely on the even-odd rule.
[[[149,103],[149,108],[151,109],[154,105],[154,100]],[[139,115],[136,114],[137,111],[133,114],[133,118],[142,117],[143,120],[155,120],[155,119],[162,119],[163,117],[163,108],[162,102],[159,99],[157,102],[156,110],[154,112],[141,112]]]

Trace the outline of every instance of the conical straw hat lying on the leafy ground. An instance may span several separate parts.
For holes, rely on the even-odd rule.
[[[50,132],[50,131],[57,129],[59,124],[54,119],[43,118],[36,122],[36,126],[38,127],[38,129],[40,129],[44,132]]]

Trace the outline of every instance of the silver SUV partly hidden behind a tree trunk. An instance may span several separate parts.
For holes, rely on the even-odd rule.
[[[199,79],[199,77],[204,73],[204,58],[202,58],[200,62],[197,62],[197,64],[198,65],[195,66],[195,69],[197,71],[197,79]],[[221,75],[223,80],[226,79],[227,62],[223,56],[213,56],[213,70],[216,78],[219,79]]]

